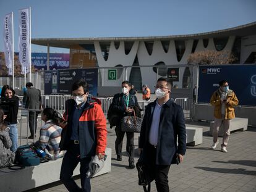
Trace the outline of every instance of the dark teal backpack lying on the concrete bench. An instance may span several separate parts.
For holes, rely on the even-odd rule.
[[[33,151],[29,144],[19,146],[16,152],[17,164],[23,166],[34,166],[40,164],[40,157]]]

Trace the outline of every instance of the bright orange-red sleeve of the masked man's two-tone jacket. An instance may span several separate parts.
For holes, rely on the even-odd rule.
[[[106,118],[103,114],[101,106],[95,104],[95,128],[97,133],[97,146],[96,153],[105,153],[107,144],[107,128],[106,128]]]

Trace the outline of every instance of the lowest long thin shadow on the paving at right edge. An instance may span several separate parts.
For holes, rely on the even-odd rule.
[[[211,168],[211,167],[195,167],[195,168],[206,170],[208,172],[242,174],[242,175],[256,175],[256,171],[245,170],[245,169],[224,169],[224,168]]]

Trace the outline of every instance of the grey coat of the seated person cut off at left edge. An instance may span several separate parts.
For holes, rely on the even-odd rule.
[[[0,129],[0,168],[7,167],[14,162],[15,153],[10,150],[11,146],[9,131]]]

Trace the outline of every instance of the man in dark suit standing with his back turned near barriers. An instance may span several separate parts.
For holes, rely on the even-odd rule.
[[[23,93],[23,104],[26,109],[41,109],[41,91],[33,87],[33,83],[26,83],[27,91]],[[37,128],[37,117],[39,112],[30,111],[28,113],[28,123],[30,129],[29,139],[35,138]]]

